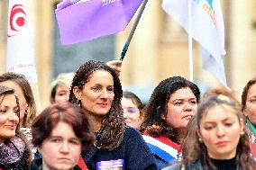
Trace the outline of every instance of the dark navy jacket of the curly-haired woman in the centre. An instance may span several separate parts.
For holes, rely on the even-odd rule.
[[[89,170],[96,170],[96,163],[123,159],[125,170],[156,170],[156,162],[150,148],[138,130],[127,127],[118,148],[112,151],[92,147],[82,152]]]

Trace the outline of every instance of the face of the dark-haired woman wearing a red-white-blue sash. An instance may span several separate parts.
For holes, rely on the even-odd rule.
[[[197,98],[189,87],[180,88],[170,95],[167,104],[167,113],[163,119],[169,127],[184,131],[187,128],[187,122],[197,112]]]

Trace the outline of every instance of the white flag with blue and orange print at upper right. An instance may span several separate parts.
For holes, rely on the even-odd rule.
[[[190,1],[190,2],[189,2]],[[191,36],[201,45],[203,67],[227,86],[224,73],[224,20],[219,0],[163,0],[162,8],[188,32],[191,3]],[[189,33],[189,32],[188,32]]]

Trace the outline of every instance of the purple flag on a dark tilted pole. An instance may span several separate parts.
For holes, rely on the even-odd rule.
[[[123,31],[142,0],[63,0],[55,11],[63,45]]]

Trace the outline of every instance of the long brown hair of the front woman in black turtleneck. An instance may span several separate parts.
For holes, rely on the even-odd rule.
[[[225,107],[231,108],[237,115],[238,120],[242,123],[242,112],[241,104],[237,103],[232,96],[224,94],[212,94],[206,97],[202,103],[198,105],[196,116],[190,120],[187,124],[187,135],[181,144],[183,164],[188,165],[197,161],[201,158],[203,169],[215,170],[216,167],[208,157],[206,145],[199,141],[197,130],[199,129],[202,117],[211,108],[216,105],[224,105]],[[237,145],[237,151],[235,156],[237,165],[242,170],[253,170],[256,169],[256,163],[251,155],[251,149],[249,145],[249,139],[247,135],[242,135]]]

